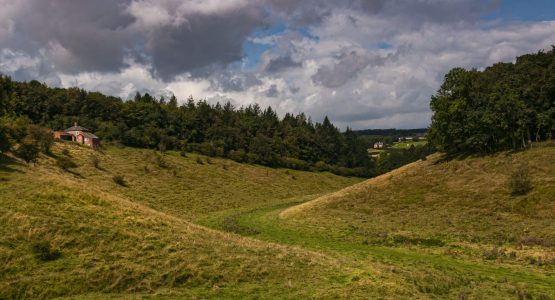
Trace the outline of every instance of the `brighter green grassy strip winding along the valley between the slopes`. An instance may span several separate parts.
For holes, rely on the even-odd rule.
[[[555,276],[522,266],[456,259],[418,249],[355,243],[340,232],[311,230],[297,222],[280,218],[288,207],[315,196],[290,199],[274,207],[232,213],[212,226],[237,231],[257,239],[295,245],[337,258],[351,270],[342,282],[381,282],[389,289],[405,290],[410,283],[411,297],[511,298],[522,295],[553,297]],[[229,227],[229,218],[234,222]],[[549,299],[549,298],[542,298]]]

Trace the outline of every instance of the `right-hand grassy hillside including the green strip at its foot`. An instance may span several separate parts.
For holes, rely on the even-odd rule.
[[[420,276],[414,284],[429,295],[555,297],[553,157],[553,144],[464,160],[436,155],[244,222],[303,228],[343,244],[346,250],[335,250],[350,256],[402,261],[391,264]],[[511,196],[506,182],[521,163],[529,165],[534,189]]]

